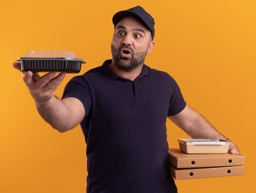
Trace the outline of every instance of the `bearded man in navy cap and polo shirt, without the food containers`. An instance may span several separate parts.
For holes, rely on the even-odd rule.
[[[171,76],[144,64],[155,45],[154,19],[137,6],[116,13],[113,24],[112,60],[70,80],[61,100],[54,91],[64,73],[23,72],[24,81],[52,127],[65,132],[81,124],[88,193],[176,193],[166,118],[193,138],[228,139],[186,104]],[[234,143],[229,152],[239,153]]]

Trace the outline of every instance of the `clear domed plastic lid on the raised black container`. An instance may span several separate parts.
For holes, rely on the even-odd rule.
[[[73,52],[67,51],[29,51],[25,57],[18,58],[21,60],[74,60],[85,63],[83,59],[77,58]]]

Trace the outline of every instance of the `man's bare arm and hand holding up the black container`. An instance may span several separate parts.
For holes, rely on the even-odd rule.
[[[40,77],[37,73],[23,72],[19,62],[13,63],[13,67],[24,74],[23,80],[36,101],[38,112],[53,128],[65,132],[83,120],[85,109],[81,101],[72,97],[60,100],[54,96],[65,73],[56,76],[55,72],[49,72]]]

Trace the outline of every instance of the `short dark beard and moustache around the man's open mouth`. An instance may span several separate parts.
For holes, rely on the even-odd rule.
[[[130,49],[132,57],[122,57],[120,54],[122,48]],[[111,52],[112,60],[115,66],[119,67],[122,70],[125,70],[126,72],[132,72],[139,66],[143,65],[147,55],[147,50],[145,52],[135,54],[133,49],[127,45],[121,45],[119,48],[116,48],[114,45],[111,44]]]

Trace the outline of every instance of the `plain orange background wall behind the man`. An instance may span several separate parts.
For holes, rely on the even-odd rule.
[[[178,82],[189,105],[245,155],[245,174],[176,180],[180,193],[251,192],[255,183],[256,1],[9,0],[0,4],[0,192],[82,193],[80,126],[58,133],[39,116],[13,61],[30,50],[74,52],[83,74],[111,58],[112,16],[140,4],[155,18],[146,64]],[[76,74],[68,74],[56,91]],[[170,147],[188,137],[167,121]]]

